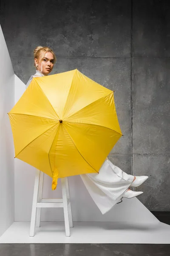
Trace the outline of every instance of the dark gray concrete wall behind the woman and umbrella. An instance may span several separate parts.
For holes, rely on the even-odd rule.
[[[170,211],[170,7],[159,0],[1,0],[15,74],[34,74],[33,50],[56,52],[53,72],[77,68],[115,90],[123,137],[109,155],[133,175],[151,211]],[[1,60],[2,61],[2,60]]]

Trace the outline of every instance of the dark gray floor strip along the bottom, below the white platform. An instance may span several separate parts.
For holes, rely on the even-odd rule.
[[[0,256],[170,256],[170,244],[0,244]]]

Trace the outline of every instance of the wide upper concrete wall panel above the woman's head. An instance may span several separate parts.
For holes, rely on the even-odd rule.
[[[47,44],[57,56],[130,57],[130,0],[16,3],[1,4],[10,56],[32,56],[38,44]]]

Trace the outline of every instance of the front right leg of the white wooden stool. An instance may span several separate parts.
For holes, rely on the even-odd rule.
[[[68,203],[67,203],[67,192],[65,186],[65,178],[61,178],[62,185],[62,200],[64,209],[64,221],[65,221],[65,236],[70,236],[69,218],[68,218]]]

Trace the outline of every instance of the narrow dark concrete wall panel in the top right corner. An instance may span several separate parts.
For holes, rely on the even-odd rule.
[[[133,56],[170,57],[170,4],[133,0]]]

